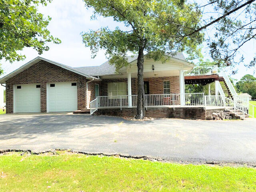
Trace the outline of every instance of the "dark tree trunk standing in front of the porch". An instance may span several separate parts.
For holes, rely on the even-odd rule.
[[[144,79],[143,79],[143,63],[144,63],[144,53],[143,48],[140,48],[137,67],[138,67],[138,101],[137,101],[137,114],[136,119],[144,118],[145,111],[145,91],[144,91]]]

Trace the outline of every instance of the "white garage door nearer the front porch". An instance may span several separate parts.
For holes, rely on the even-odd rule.
[[[69,112],[77,110],[76,82],[49,83],[48,112]]]

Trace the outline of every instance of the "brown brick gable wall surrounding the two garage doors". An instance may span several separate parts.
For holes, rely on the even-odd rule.
[[[6,81],[6,112],[13,112],[13,84],[41,85],[41,112],[46,112],[46,83],[77,82],[78,109],[86,107],[86,78],[46,61],[40,61]]]

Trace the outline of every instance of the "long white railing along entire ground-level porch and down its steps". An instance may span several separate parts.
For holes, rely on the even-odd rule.
[[[244,105],[244,101],[234,101],[226,98],[224,95],[204,96],[204,93],[185,93],[185,94],[152,94],[145,95],[145,107],[159,106],[181,106],[181,97],[184,98],[184,106],[220,106],[233,112],[234,114],[245,118],[245,115],[254,117],[254,108]],[[98,96],[90,102],[90,113],[93,114],[98,108],[128,108],[128,95],[123,96]],[[132,107],[137,106],[137,95],[132,95]]]

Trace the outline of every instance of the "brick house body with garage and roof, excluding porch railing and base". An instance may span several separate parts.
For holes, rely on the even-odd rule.
[[[0,79],[6,84],[6,112],[64,112],[90,108],[97,96],[136,95],[136,56],[118,73],[108,62],[72,68],[37,57]],[[145,58],[145,94],[179,94],[183,71],[194,65],[182,53],[164,64]]]

